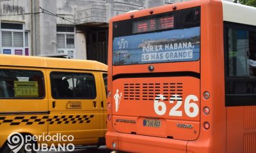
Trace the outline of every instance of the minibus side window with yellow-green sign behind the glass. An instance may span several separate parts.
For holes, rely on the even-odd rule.
[[[0,98],[44,98],[40,71],[0,69]]]

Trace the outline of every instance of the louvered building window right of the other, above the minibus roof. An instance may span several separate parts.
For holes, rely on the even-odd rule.
[[[73,26],[57,26],[57,52],[59,54],[67,54],[68,58],[74,58],[75,34]]]

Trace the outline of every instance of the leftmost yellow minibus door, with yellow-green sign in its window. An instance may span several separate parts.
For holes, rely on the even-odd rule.
[[[0,74],[0,143],[15,131],[47,135],[45,69],[0,66]],[[38,143],[45,143],[45,140],[38,138]]]

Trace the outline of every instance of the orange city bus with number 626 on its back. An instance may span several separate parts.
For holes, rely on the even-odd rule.
[[[109,149],[256,152],[256,8],[204,0],[109,22]]]

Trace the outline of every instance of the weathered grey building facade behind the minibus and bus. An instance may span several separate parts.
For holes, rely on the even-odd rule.
[[[0,54],[107,63],[109,18],[186,0],[1,0]]]

